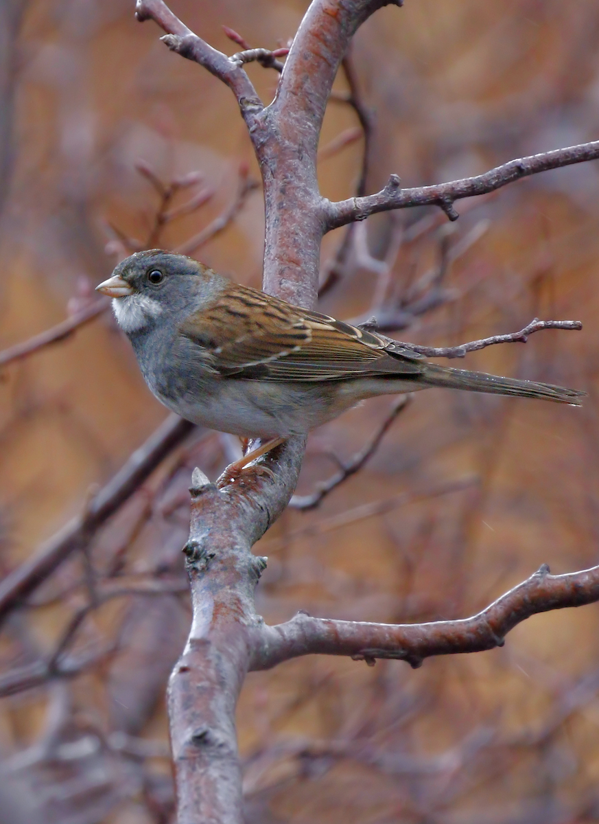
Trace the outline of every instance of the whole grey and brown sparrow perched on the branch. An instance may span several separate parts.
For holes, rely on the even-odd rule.
[[[583,391],[430,363],[408,345],[234,283],[186,255],[136,252],[113,298],[151,392],[169,410],[260,438],[237,469],[366,398],[444,386],[580,405]]]

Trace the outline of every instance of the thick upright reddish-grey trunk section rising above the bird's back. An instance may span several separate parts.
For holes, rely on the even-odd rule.
[[[295,35],[275,100],[262,166],[266,208],[263,288],[304,307],[317,299],[327,200],[318,191],[318,140],[343,55],[355,31],[388,0],[313,0]],[[397,2],[397,5],[400,5]]]

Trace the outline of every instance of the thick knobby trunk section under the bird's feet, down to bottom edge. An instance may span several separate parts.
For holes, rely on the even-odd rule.
[[[193,473],[192,524],[183,550],[193,624],[169,681],[179,824],[243,821],[234,714],[248,670],[248,633],[262,622],[253,591],[266,566],[251,547],[286,507],[304,446],[303,438],[291,438],[222,489],[199,470]]]

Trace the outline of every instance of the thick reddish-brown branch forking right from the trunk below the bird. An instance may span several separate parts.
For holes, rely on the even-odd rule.
[[[313,618],[298,613],[286,624],[256,630],[250,670],[275,667],[289,658],[320,653],[350,655],[374,663],[397,658],[420,667],[431,655],[477,653],[501,647],[505,635],[538,612],[599,601],[599,566],[583,572],[550,575],[546,564],[478,615],[430,624],[368,624]]]

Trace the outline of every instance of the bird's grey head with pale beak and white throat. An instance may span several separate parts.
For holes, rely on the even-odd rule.
[[[151,331],[159,317],[191,311],[223,280],[193,258],[149,249],[122,260],[96,291],[113,298],[118,325],[132,336]]]

